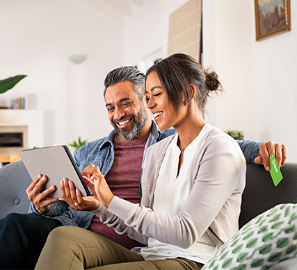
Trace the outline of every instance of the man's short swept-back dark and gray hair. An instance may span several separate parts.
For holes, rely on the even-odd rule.
[[[118,67],[106,75],[104,80],[104,99],[107,87],[125,81],[129,81],[134,85],[134,91],[138,95],[139,100],[142,101],[145,95],[145,74],[131,66]]]

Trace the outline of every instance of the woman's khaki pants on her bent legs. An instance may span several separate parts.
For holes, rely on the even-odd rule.
[[[101,235],[77,227],[59,227],[47,238],[35,269],[201,269],[184,258],[143,260]]]

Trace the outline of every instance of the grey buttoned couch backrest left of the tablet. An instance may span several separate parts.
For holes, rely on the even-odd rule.
[[[26,188],[32,182],[22,160],[0,169],[0,219],[11,212],[27,213],[30,201]]]

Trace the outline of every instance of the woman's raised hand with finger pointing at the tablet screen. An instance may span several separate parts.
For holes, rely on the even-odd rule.
[[[86,185],[88,185],[93,195],[100,201],[100,203],[108,208],[114,195],[111,192],[109,185],[107,185],[103,174],[101,174],[99,167],[95,166],[94,164],[90,164],[88,167],[83,169],[83,171],[81,171],[81,175],[86,176],[83,177],[83,179],[85,180]],[[94,183],[91,180],[93,180]]]

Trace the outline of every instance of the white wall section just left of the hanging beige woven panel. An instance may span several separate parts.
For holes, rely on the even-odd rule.
[[[167,56],[169,16],[188,0],[145,0],[134,8],[125,24],[125,65],[137,65],[145,72],[143,61]]]

